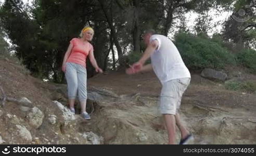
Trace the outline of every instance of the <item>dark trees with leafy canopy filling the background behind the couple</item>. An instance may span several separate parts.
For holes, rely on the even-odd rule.
[[[143,30],[155,29],[163,35],[174,27],[185,30],[186,12],[199,14],[191,33],[206,34],[214,28],[207,23],[210,9],[232,12],[223,23],[224,40],[241,47],[256,45],[253,0],[35,0],[32,6],[22,0],[8,0],[0,9],[0,26],[14,45],[15,55],[33,75],[63,83],[63,56],[69,41],[78,37],[85,25],[95,30],[92,44],[99,66],[116,69],[126,53],[143,51]],[[87,71],[89,76],[95,74],[89,61]]]

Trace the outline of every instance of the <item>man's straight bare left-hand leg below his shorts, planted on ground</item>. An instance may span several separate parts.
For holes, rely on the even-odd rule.
[[[175,116],[173,114],[163,114],[163,118],[167,127],[168,144],[175,144]]]

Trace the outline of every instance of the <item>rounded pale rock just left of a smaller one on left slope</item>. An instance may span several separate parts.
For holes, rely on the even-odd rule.
[[[44,119],[44,113],[37,107],[31,109],[31,111],[26,116],[29,119],[29,123],[35,128],[39,128]]]

